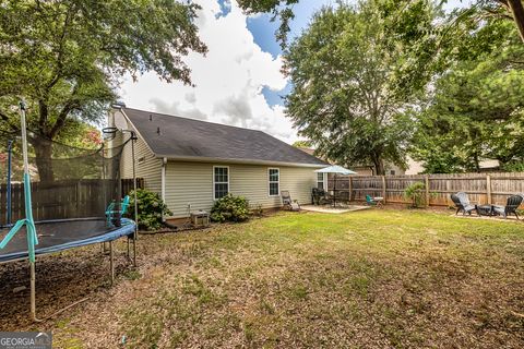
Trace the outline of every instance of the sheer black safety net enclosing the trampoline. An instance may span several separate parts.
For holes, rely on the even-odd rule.
[[[94,143],[93,148],[81,148],[52,142],[31,131],[27,137],[35,221],[105,217],[111,202],[119,207],[120,158],[126,143],[111,148]],[[0,133],[0,227],[25,216],[21,143],[20,133]]]

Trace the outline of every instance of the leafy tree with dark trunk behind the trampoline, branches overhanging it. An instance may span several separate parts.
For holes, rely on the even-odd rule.
[[[19,129],[17,101],[28,128],[56,139],[75,119],[94,122],[116,99],[123,74],[154,71],[190,84],[182,57],[205,52],[195,4],[171,0],[8,0],[0,5],[0,128]],[[14,106],[14,107],[13,107]],[[40,180],[51,149],[31,139]]]

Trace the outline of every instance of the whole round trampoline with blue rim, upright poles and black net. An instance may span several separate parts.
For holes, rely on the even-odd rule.
[[[127,237],[128,258],[131,260],[132,241],[131,261],[136,265],[136,136],[133,131],[116,127],[106,128],[103,132],[104,140],[93,142],[91,148],[55,142],[26,128],[25,105],[21,103],[20,130],[0,133],[0,151],[5,151],[8,155],[7,171],[3,173],[3,167],[0,167],[0,172],[5,176],[9,193],[3,196],[7,197],[7,212],[0,215],[0,264],[28,260],[34,321],[38,321],[37,257],[94,243],[102,243],[106,251],[109,244],[112,285],[114,241]],[[126,132],[130,134],[128,139],[123,136]],[[129,143],[132,172],[128,170],[127,177],[132,173],[134,221],[123,218],[130,200],[122,190],[121,171],[126,167],[121,166],[120,159]],[[4,144],[8,146],[2,149]],[[16,222],[11,219],[16,219]]]

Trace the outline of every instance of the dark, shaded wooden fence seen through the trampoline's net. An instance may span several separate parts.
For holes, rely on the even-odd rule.
[[[116,183],[111,180],[66,180],[31,184],[35,220],[98,217],[112,196]],[[136,180],[144,188],[144,179]],[[132,179],[121,180],[121,195],[133,189]],[[7,224],[8,188],[0,184],[0,226]],[[11,184],[11,222],[25,217],[24,184]]]

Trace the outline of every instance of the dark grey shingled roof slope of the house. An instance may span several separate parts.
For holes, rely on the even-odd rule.
[[[326,166],[321,159],[262,131],[130,108],[122,110],[159,157]]]

